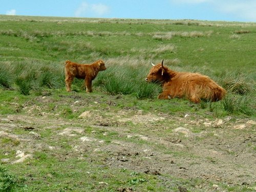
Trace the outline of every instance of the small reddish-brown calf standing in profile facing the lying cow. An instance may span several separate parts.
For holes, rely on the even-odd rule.
[[[84,79],[86,92],[92,92],[92,80],[97,76],[99,71],[104,70],[106,70],[106,68],[105,63],[102,60],[97,60],[90,65],[78,64],[67,60],[65,65],[65,82],[67,91],[71,92],[71,83],[76,77],[78,79]]]

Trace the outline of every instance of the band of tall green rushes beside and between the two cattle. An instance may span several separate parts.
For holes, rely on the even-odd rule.
[[[161,92],[159,84],[147,83],[145,77],[150,71],[151,65],[140,59],[107,59],[111,63],[106,71],[100,72],[93,81],[93,87],[101,87],[110,95],[134,95],[138,99],[156,98]],[[173,61],[170,61],[173,63]],[[174,62],[176,63],[176,62]],[[40,91],[42,89],[55,89],[65,87],[64,66],[60,63],[43,63],[31,61],[2,62],[0,67],[0,86],[3,88],[14,88],[23,95],[29,95],[31,90]],[[187,67],[178,71],[198,71],[198,69]],[[176,69],[177,68],[177,69]],[[203,74],[209,73],[202,68]],[[252,115],[255,112],[255,82],[252,76],[242,73],[223,73],[218,82],[227,90],[227,96],[221,104],[223,110],[228,113],[243,113]],[[82,80],[75,79],[72,86],[84,91]],[[201,108],[207,108],[207,103],[201,103]],[[213,106],[213,105],[212,105]],[[210,109],[213,111],[213,109]]]

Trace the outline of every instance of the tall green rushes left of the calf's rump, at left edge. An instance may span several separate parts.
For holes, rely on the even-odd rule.
[[[0,68],[0,86],[14,87],[23,95],[31,90],[60,88],[64,85],[63,66],[41,62],[3,62]]]

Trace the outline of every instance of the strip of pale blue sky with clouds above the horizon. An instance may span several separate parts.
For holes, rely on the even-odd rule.
[[[256,0],[1,0],[0,14],[256,22]]]

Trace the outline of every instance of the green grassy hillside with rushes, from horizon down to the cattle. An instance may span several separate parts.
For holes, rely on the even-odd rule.
[[[231,110],[232,103],[248,107],[238,110],[242,113],[255,108],[254,23],[28,16],[1,16],[0,22],[4,89],[29,95],[63,88],[65,60],[91,63],[102,58],[107,70],[98,74],[93,87],[110,95],[156,98],[161,87],[144,78],[150,61],[164,58],[173,70],[199,72],[224,87],[224,111],[242,108]],[[84,91],[83,80],[72,86]],[[216,105],[209,106],[214,111]]]

